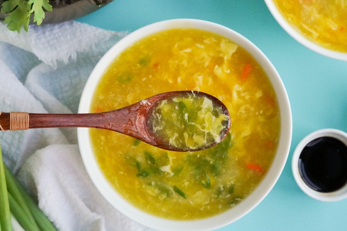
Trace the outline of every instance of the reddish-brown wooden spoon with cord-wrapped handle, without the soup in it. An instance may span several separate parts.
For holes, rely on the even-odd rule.
[[[214,106],[221,108],[223,114],[228,116],[225,128],[220,133],[220,140],[208,145],[202,145],[197,149],[178,148],[170,145],[168,141],[160,139],[153,132],[147,122],[152,116],[153,108],[158,106],[161,100],[183,97],[187,94],[198,95],[212,100]],[[87,114],[35,114],[26,112],[10,112],[0,114],[0,128],[6,130],[26,130],[28,128],[49,127],[91,127],[116,131],[132,136],[145,143],[158,148],[171,151],[198,151],[219,143],[229,132],[230,115],[226,106],[217,98],[198,91],[171,91],[143,99],[135,104],[101,113]]]

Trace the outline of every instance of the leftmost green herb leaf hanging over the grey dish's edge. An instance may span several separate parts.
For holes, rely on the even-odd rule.
[[[9,30],[17,31],[18,33],[24,27],[28,31],[28,25],[31,13],[29,12],[30,5],[25,0],[9,0],[1,5],[1,13],[8,14],[3,21],[8,23]]]

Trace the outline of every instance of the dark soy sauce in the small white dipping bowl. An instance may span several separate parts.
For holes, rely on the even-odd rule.
[[[299,173],[310,188],[333,192],[347,182],[347,147],[333,137],[308,143],[299,157]]]

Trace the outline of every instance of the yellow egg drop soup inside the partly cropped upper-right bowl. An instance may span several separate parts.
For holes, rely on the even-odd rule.
[[[283,17],[312,42],[347,52],[347,1],[274,0]]]

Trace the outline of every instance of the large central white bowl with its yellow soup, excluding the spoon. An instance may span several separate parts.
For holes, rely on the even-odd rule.
[[[81,155],[101,194],[134,221],[157,230],[217,229],[251,211],[280,176],[291,141],[288,96],[271,62],[245,37],[208,21],[174,19],[113,46],[91,73],[79,113],[176,90],[206,92],[227,106],[230,132],[220,144],[173,152],[78,128]]]

